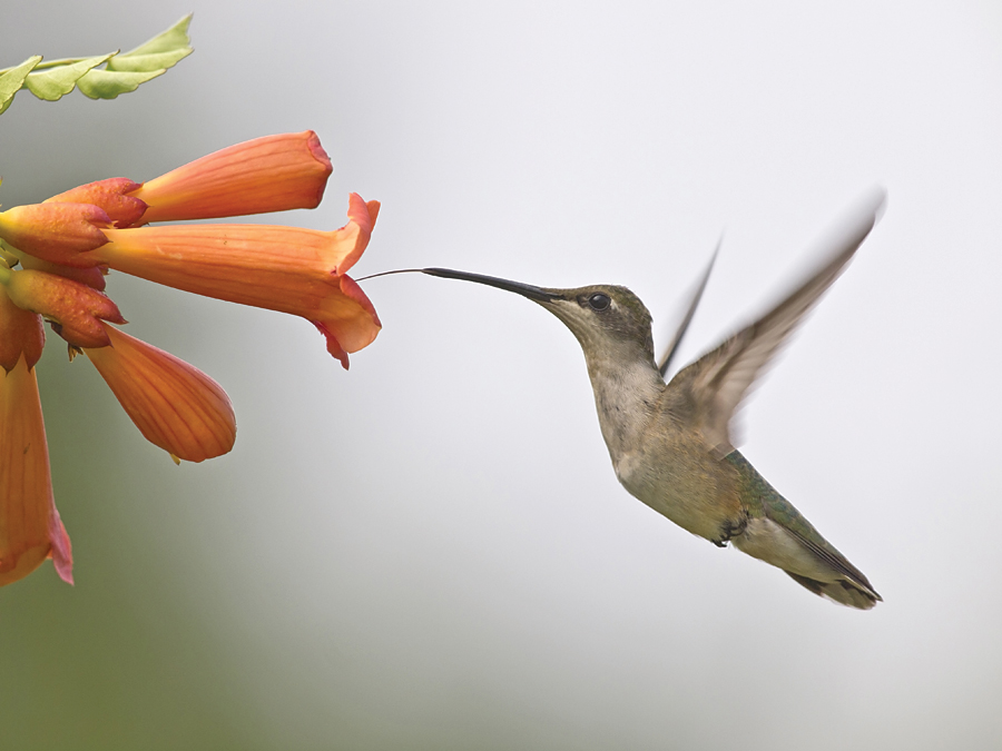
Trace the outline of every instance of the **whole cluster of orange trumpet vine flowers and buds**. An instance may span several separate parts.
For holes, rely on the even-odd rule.
[[[289,313],[324,335],[343,367],[380,330],[346,275],[380,205],[348,197],[340,229],[150,226],[315,208],[332,166],[312,131],[237,144],[144,184],[110,178],[0,213],[0,586],[47,557],[72,583],[56,511],[35,367],[42,322],[82,353],[150,443],[175,462],[225,454],[236,438],[226,392],[193,365],[121,330],[105,293],[120,271],[197,295]]]

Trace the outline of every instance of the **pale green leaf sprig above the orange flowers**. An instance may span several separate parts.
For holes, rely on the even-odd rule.
[[[161,76],[194,51],[188,38],[190,22],[189,13],[167,31],[124,55],[109,52],[46,62],[41,62],[41,56],[33,56],[16,68],[0,70],[0,113],[22,88],[46,101],[56,101],[75,87],[91,99],[115,99],[135,91],[140,83]],[[98,68],[105,63],[104,69]]]

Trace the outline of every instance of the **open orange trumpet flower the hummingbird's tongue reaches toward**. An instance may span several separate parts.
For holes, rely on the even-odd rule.
[[[372,303],[343,276],[369,245],[377,213],[376,201],[352,194],[350,221],[332,233],[271,225],[106,229],[111,241],[96,253],[111,268],[157,284],[302,316],[346,363],[346,352],[380,332]]]

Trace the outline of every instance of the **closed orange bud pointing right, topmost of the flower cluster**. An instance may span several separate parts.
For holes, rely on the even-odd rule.
[[[131,195],[144,221],[206,219],[315,208],[331,160],[312,130],[255,138],[149,180]]]

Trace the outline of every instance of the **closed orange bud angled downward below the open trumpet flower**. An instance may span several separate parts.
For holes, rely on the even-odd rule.
[[[236,417],[219,384],[163,349],[102,326],[111,346],[84,354],[147,441],[188,462],[233,448]]]

